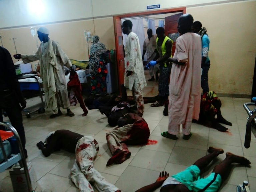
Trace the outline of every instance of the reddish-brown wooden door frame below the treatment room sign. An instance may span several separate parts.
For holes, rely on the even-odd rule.
[[[115,15],[113,16],[113,21],[114,21],[114,33],[115,33],[115,46],[116,46],[116,50],[118,49],[118,37],[117,37],[117,27],[120,26],[116,26],[116,19],[122,19],[125,17],[134,17],[134,16],[144,16],[144,15],[158,15],[158,14],[167,14],[167,13],[177,13],[177,12],[183,12],[183,14],[186,13],[186,7],[178,7],[178,8],[172,8],[172,9],[161,9],[161,10],[154,10],[154,11],[143,11],[143,12],[138,12],[138,13],[129,13],[129,14],[123,14],[123,15]],[[117,53],[118,54],[118,53]],[[117,58],[117,70],[118,70],[118,75],[124,75],[124,71],[119,71],[119,61],[118,58],[119,56],[116,55]],[[119,80],[119,78],[118,78]],[[118,81],[118,85],[119,85],[119,93],[121,94],[121,89],[120,89],[120,82]]]

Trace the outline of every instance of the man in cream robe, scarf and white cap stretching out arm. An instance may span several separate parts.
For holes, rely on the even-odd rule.
[[[46,108],[53,111],[51,118],[62,115],[60,107],[67,109],[67,115],[72,117],[74,113],[69,109],[67,84],[65,80],[64,66],[73,70],[72,64],[60,47],[59,43],[52,41],[45,27],[37,31],[38,38],[42,42],[34,55],[15,55],[16,59],[22,59],[24,63],[40,60],[40,77],[43,80]]]

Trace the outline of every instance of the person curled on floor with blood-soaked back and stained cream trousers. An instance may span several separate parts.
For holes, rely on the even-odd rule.
[[[131,156],[127,145],[146,144],[150,135],[147,122],[136,113],[127,113],[117,122],[118,127],[106,134],[107,144],[112,153],[107,166],[121,164]]]

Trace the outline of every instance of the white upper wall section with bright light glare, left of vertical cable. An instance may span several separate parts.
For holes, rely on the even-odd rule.
[[[91,0],[0,0],[0,29],[92,18]]]

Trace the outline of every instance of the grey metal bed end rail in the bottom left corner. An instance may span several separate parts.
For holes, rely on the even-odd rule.
[[[6,131],[6,134],[4,134],[5,131],[1,131],[0,145],[1,145],[2,155],[4,156],[4,161],[0,164],[0,173],[3,172],[4,170],[6,170],[7,168],[9,168],[10,166],[14,165],[15,163],[19,162],[20,166],[24,168],[24,174],[25,174],[25,178],[26,178],[27,188],[29,189],[29,192],[33,192],[31,180],[29,177],[27,162],[26,162],[26,158],[25,158],[25,154],[24,154],[24,151],[22,148],[19,134],[16,131],[16,129],[7,122],[0,122],[0,125],[5,126],[8,130],[11,131],[11,133],[13,133],[13,136],[15,137],[18,147],[19,147],[18,154],[11,154],[9,157],[7,157],[7,155],[6,155],[7,151],[5,150],[5,148],[3,146],[2,138],[4,138],[3,140],[8,138],[8,136],[4,137],[4,135],[6,135],[6,134],[10,135],[10,132]],[[7,150],[10,150],[10,149],[7,149]]]

